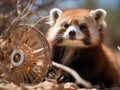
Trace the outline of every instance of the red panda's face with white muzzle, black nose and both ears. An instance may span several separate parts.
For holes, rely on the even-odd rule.
[[[53,9],[47,39],[54,45],[91,47],[102,42],[104,18],[102,9]]]

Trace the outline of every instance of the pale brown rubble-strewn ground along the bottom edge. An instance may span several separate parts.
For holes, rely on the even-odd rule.
[[[91,88],[91,89],[79,88],[74,83],[67,82],[67,83],[57,84],[56,80],[49,79],[37,85],[22,84],[20,86],[17,86],[13,83],[6,84],[4,82],[0,84],[0,90],[120,90],[120,87],[112,87],[112,88],[105,88],[105,89],[100,89],[99,86],[95,86],[94,88]]]

